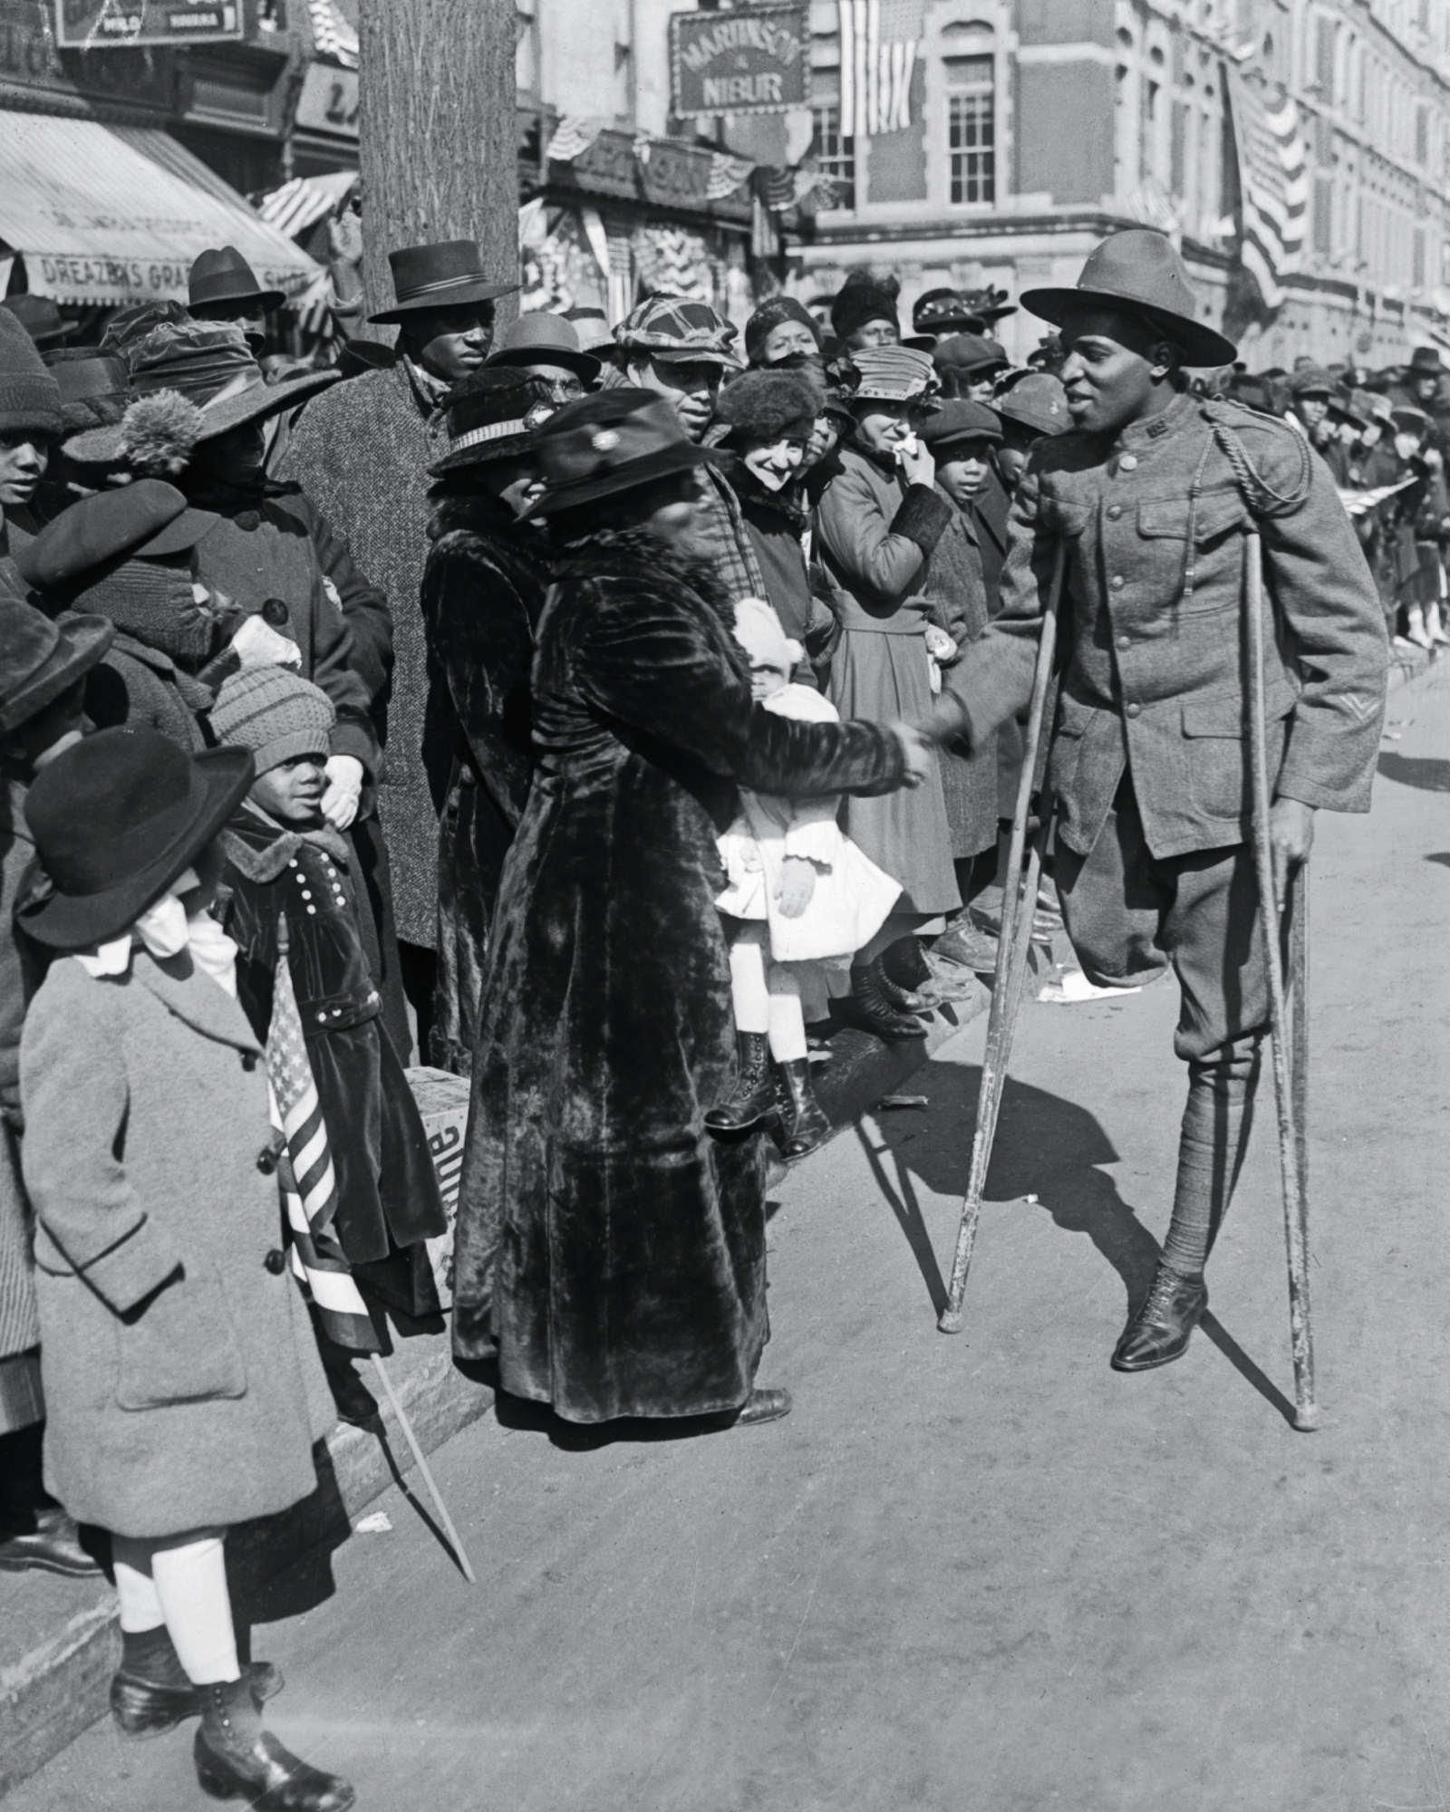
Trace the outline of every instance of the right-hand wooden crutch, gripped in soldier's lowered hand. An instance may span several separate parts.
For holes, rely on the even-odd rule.
[[[1269,725],[1263,698],[1263,565],[1256,531],[1245,536],[1245,600],[1249,609],[1249,770],[1254,795],[1254,866],[1269,966],[1269,1042],[1274,1056],[1274,1100],[1280,1123],[1283,1178],[1283,1238],[1289,1250],[1289,1343],[1294,1354],[1294,1428],[1320,1426],[1314,1402],[1314,1328],[1309,1316],[1309,1163],[1305,1109],[1309,1105],[1309,872],[1287,881],[1289,962],[1294,1020],[1283,988],[1283,913],[1274,888],[1274,850],[1269,837]]]

